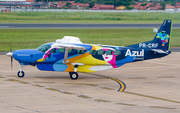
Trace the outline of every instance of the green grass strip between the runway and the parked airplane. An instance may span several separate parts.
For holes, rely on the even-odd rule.
[[[180,47],[180,29],[173,29],[172,47]],[[152,40],[152,29],[0,29],[0,51],[32,49],[63,36],[79,37],[83,43],[125,46]]]

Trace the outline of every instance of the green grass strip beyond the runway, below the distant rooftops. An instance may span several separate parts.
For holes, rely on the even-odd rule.
[[[180,23],[179,13],[10,12],[0,13],[0,23]]]

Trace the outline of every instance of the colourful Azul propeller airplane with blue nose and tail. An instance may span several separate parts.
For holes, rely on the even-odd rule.
[[[23,67],[36,66],[42,71],[69,72],[76,80],[78,72],[96,72],[118,68],[126,63],[161,58],[171,53],[172,20],[164,20],[154,39],[123,46],[84,44],[78,37],[64,36],[37,49],[24,49],[6,55],[20,64],[18,77],[24,77]]]

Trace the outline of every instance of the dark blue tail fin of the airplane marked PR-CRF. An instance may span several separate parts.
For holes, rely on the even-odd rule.
[[[152,41],[143,42],[128,47],[170,51],[172,23],[172,20],[164,20]]]

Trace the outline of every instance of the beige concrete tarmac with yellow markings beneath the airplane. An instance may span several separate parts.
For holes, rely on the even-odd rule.
[[[117,69],[79,73],[43,72],[0,55],[0,113],[179,113],[180,52],[125,64]]]

